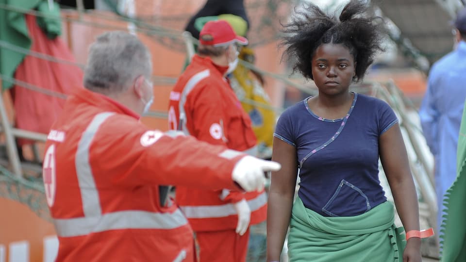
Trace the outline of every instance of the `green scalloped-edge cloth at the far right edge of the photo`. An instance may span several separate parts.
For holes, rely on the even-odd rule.
[[[445,194],[442,224],[442,262],[466,261],[466,110],[461,119],[457,152],[457,178]]]

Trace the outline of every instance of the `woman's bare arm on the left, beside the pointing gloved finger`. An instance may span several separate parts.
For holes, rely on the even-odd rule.
[[[282,169],[272,172],[267,207],[267,261],[280,261],[290,223],[298,175],[296,147],[273,138],[272,161]]]

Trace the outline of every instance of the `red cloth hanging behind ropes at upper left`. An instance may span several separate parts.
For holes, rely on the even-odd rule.
[[[74,62],[74,57],[66,44],[59,37],[51,40],[37,25],[35,16],[26,15],[31,50]],[[71,94],[76,88],[82,88],[83,72],[77,66],[50,62],[27,55],[17,67],[15,78],[48,90]],[[48,133],[50,126],[62,111],[65,100],[52,97],[25,87],[14,85],[12,98],[15,108],[16,127],[28,131]],[[33,141],[19,139],[19,145],[31,144]]]

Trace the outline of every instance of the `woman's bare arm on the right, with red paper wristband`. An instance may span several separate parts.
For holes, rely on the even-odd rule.
[[[379,153],[405,231],[419,230],[419,207],[416,188],[399,124],[393,125],[380,136]],[[406,244],[403,261],[409,259],[410,262],[420,262],[420,244],[420,238],[410,238]]]

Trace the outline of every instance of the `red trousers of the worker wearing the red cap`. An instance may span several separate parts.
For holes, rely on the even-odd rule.
[[[246,262],[249,229],[240,236],[234,229],[196,232],[199,262]]]

